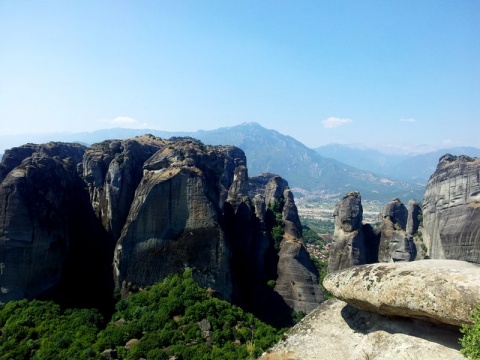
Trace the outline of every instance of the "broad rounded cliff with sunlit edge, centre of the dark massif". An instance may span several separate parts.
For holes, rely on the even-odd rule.
[[[153,284],[191,267],[202,286],[231,298],[231,249],[222,227],[222,208],[229,191],[234,199],[240,195],[230,189],[238,185],[232,175],[245,166],[243,152],[234,150],[179,140],[145,163],[116,245],[117,287],[129,282]]]

